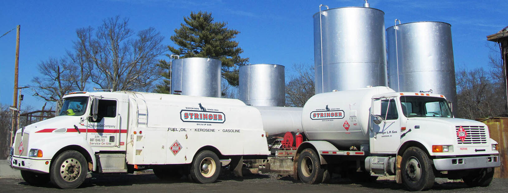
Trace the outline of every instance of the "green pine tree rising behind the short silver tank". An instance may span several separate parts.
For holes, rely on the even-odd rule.
[[[187,57],[210,57],[222,61],[222,77],[233,86],[238,85],[238,67],[245,65],[249,58],[240,57],[243,50],[238,47],[238,42],[233,39],[240,31],[226,27],[227,22],[214,22],[211,13],[208,12],[190,12],[189,17],[183,18],[184,23],[181,27],[175,29],[175,35],[171,40],[178,45],[178,48],[168,46],[169,50]],[[162,68],[169,69],[167,61],[162,60],[159,65]],[[171,71],[169,69],[169,71]],[[169,79],[169,73],[162,76]],[[156,92],[167,93],[165,88],[169,87],[169,81],[157,85]]]

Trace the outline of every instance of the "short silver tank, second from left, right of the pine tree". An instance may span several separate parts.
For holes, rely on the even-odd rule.
[[[240,66],[238,81],[239,99],[245,104],[252,106],[284,106],[284,66],[265,63]]]

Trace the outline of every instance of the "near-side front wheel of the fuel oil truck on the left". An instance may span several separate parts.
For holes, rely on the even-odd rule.
[[[60,153],[51,164],[50,180],[62,189],[72,189],[85,181],[88,164],[85,157],[78,151],[68,150]]]

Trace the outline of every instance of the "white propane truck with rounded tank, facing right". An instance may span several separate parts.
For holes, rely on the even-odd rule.
[[[439,94],[384,86],[320,93],[305,103],[301,122],[306,141],[279,144],[276,152],[292,157],[294,177],[305,183],[345,173],[363,180],[395,175],[409,190],[431,188],[435,177],[487,186],[500,166],[487,125],[454,118]],[[295,144],[288,136],[282,142]]]

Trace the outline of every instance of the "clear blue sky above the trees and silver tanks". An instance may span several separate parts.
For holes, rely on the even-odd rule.
[[[211,12],[215,21],[241,33],[236,41],[250,63],[274,63],[286,67],[289,79],[296,63],[314,63],[312,15],[319,5],[330,8],[362,6],[361,0],[336,1],[9,1],[0,2],[0,35],[21,25],[19,85],[30,85],[38,76],[37,65],[49,57],[61,57],[72,49],[76,29],[97,27],[119,15],[130,18],[135,31],[154,27],[173,45],[170,36],[191,11]],[[385,12],[385,28],[394,19],[402,23],[442,21],[452,25],[455,67],[475,69],[488,65],[486,36],[508,25],[508,3],[491,1],[371,0],[370,7]],[[16,31],[0,38],[0,103],[12,105]],[[162,57],[166,58],[166,57]],[[44,102],[23,89],[22,108],[42,108]],[[53,104],[51,104],[53,105]]]

